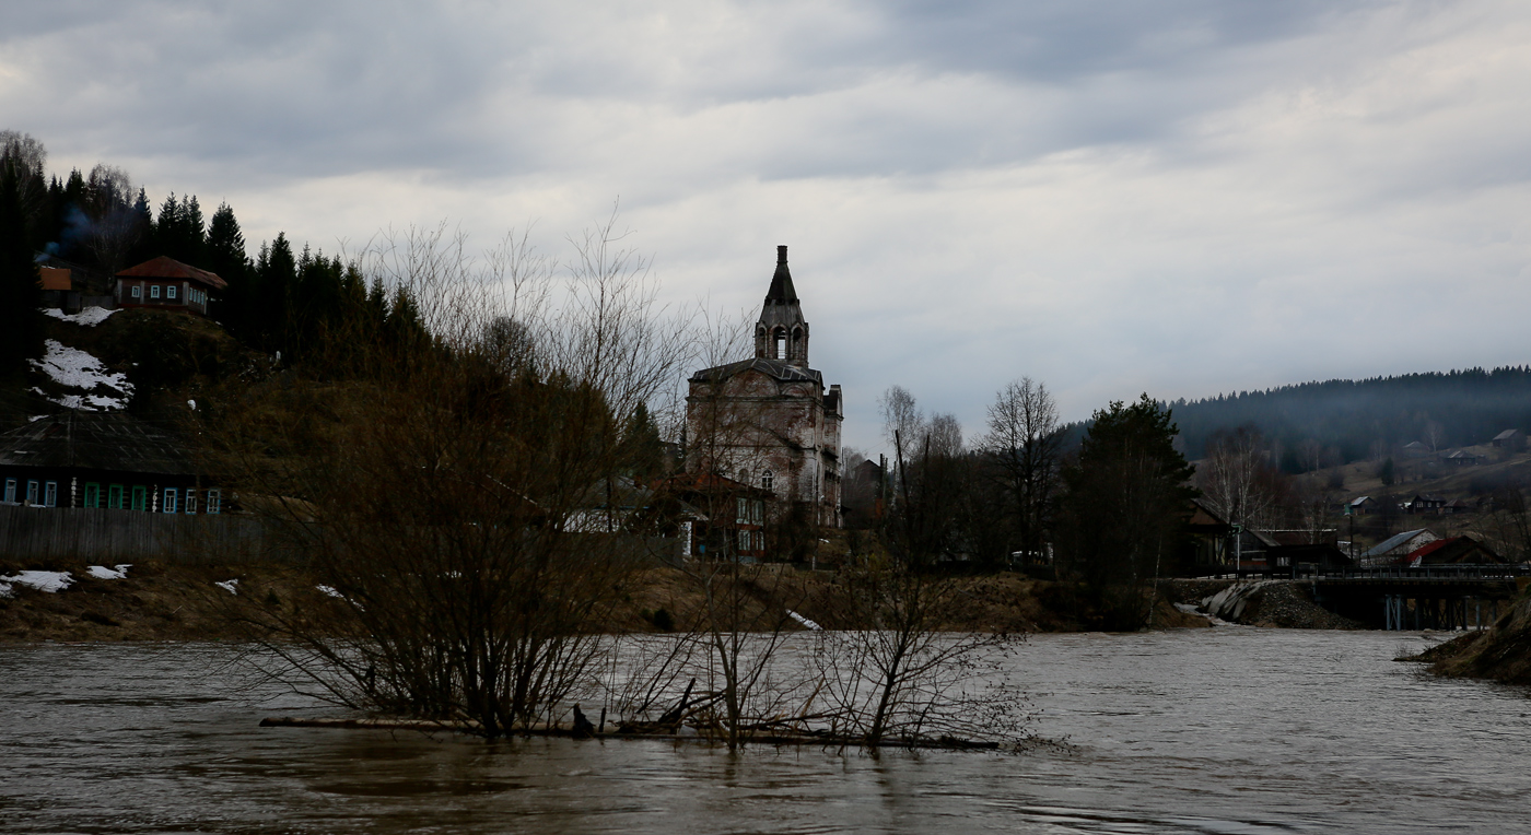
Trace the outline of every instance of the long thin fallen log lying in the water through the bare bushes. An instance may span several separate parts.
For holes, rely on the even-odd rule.
[[[429,719],[299,719],[299,717],[266,717],[260,720],[262,728],[343,728],[364,731],[453,731],[478,733],[478,722],[436,722]],[[517,728],[514,736],[528,737],[576,737],[574,728],[562,725],[544,725],[534,728]],[[608,731],[594,733],[582,739],[657,739],[672,742],[715,742],[700,733],[674,731]],[[821,745],[825,748],[867,748],[860,739],[834,737],[828,734],[798,733],[798,734],[755,734],[747,739],[750,745]],[[940,739],[885,739],[871,748],[946,748],[963,751],[997,751],[998,742],[983,742],[957,737]]]

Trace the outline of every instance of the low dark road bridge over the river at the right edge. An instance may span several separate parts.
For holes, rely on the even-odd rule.
[[[1271,577],[1271,575],[1266,575]],[[1525,566],[1421,566],[1335,569],[1289,573],[1312,584],[1324,609],[1387,630],[1487,629],[1499,604],[1513,599]]]

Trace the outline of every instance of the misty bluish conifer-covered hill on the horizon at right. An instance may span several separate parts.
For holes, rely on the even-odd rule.
[[[1531,367],[1330,379],[1165,405],[1190,459],[1213,433],[1252,424],[1277,443],[1285,469],[1301,471],[1312,456],[1329,466],[1413,440],[1465,447],[1531,430]]]

